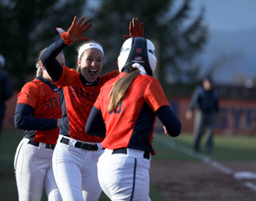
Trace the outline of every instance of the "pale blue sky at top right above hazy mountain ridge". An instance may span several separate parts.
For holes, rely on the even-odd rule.
[[[255,0],[193,0],[192,6],[206,7],[210,30],[239,31],[256,28]]]

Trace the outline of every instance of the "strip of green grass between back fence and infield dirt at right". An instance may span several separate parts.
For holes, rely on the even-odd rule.
[[[197,160],[186,153],[171,148],[172,144],[185,146],[192,151],[193,135],[182,133],[176,138],[165,134],[155,134],[154,148],[156,155],[154,160]],[[169,145],[168,145],[169,144]],[[225,161],[255,161],[256,160],[256,137],[255,136],[214,136],[214,151],[211,154],[204,152],[205,137],[201,142],[201,150],[212,160]]]

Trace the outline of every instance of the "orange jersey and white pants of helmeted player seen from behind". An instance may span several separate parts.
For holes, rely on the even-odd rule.
[[[121,73],[120,77],[123,76]],[[102,87],[93,110],[101,111],[106,126],[106,136],[101,143],[106,150],[98,163],[101,188],[112,200],[150,200],[149,168],[150,155],[155,154],[152,147],[155,111],[169,104],[157,79],[139,75],[117,110],[109,113],[108,95],[117,79]]]

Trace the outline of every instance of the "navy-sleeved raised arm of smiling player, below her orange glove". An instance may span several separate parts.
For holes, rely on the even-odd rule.
[[[49,76],[54,81],[58,81],[61,77],[63,68],[56,57],[59,55],[59,52],[67,47],[67,44],[60,38],[57,42],[51,44],[41,55],[40,59],[47,69]]]

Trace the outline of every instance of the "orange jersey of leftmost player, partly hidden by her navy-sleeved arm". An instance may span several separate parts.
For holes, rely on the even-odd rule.
[[[51,83],[47,84],[39,79],[27,82],[17,95],[17,103],[27,104],[34,108],[35,118],[60,119],[59,92],[51,89],[49,85]],[[58,136],[59,128],[48,131],[35,131],[34,142],[55,144]]]

